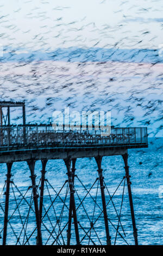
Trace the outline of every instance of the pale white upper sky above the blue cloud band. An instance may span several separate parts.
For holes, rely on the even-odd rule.
[[[12,48],[155,48],[161,0],[1,0],[1,44]]]

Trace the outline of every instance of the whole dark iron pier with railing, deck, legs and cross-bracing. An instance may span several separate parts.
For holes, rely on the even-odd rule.
[[[22,125],[11,125],[10,124],[10,107],[22,107],[23,112],[23,124]],[[3,108],[7,108],[7,118],[4,119]],[[99,217],[103,216],[103,230],[105,230],[105,244],[111,245],[112,239],[110,236],[110,225],[114,226],[115,230],[115,242],[118,239],[118,236],[121,237],[121,240],[124,243],[126,242],[125,233],[123,230],[123,225],[121,223],[121,211],[117,212],[115,207],[115,212],[118,218],[117,226],[110,221],[110,216],[108,215],[108,202],[106,202],[105,193],[109,193],[106,183],[104,181],[103,169],[102,169],[102,158],[103,156],[112,156],[112,155],[121,155],[124,160],[124,169],[125,173],[122,178],[121,183],[123,182],[124,186],[127,185],[128,195],[129,195],[129,204],[130,204],[130,213],[131,213],[131,222],[133,225],[133,235],[134,243],[138,244],[137,240],[137,229],[135,223],[134,215],[134,206],[133,198],[131,194],[131,182],[129,175],[128,167],[128,149],[132,148],[145,148],[148,147],[147,143],[147,128],[146,127],[111,127],[109,136],[102,136],[101,130],[76,130],[76,131],[55,131],[52,125],[27,125],[26,124],[26,112],[24,102],[0,102],[0,111],[1,111],[1,139],[0,139],[0,163],[7,164],[7,179],[3,187],[5,191],[5,202],[4,205],[1,203],[1,212],[4,218],[3,228],[0,230],[3,238],[3,245],[8,243],[10,236],[15,237],[14,244],[28,245],[30,244],[31,237],[36,233],[35,243],[37,245],[47,244],[48,241],[51,241],[52,245],[71,245],[71,237],[74,235],[75,244],[80,245],[84,244],[85,239],[86,244],[89,241],[90,244],[96,245],[101,244],[101,239],[99,238],[98,231],[96,231],[95,224],[99,221]],[[5,120],[5,122],[3,121]],[[4,123],[4,125],[3,125]],[[94,216],[95,207],[98,208],[99,216],[96,220],[91,221],[89,215],[87,214],[83,201],[85,198],[90,196],[91,188],[86,188],[83,182],[80,180],[82,187],[86,191],[86,196],[84,198],[80,197],[76,191],[76,180],[78,176],[76,174],[76,160],[83,157],[95,157],[97,168],[98,168],[98,177],[95,179],[95,182],[92,186],[98,183],[99,191],[101,191],[101,206],[97,203],[97,195],[92,199],[92,211]],[[52,188],[51,184],[48,183],[46,179],[46,164],[48,160],[62,159],[65,162],[67,169],[67,180],[65,184],[61,187],[61,190],[64,190],[65,186],[67,189],[65,191],[66,198],[63,199],[60,196],[60,191],[57,192],[55,187]],[[35,175],[35,162],[41,160],[42,170],[40,184],[36,184],[36,175]],[[30,170],[30,179],[31,187],[28,188],[32,190],[30,202],[26,199],[23,192],[15,185],[14,180],[11,176],[11,168],[14,162],[27,161],[29,170]],[[23,177],[22,177],[23,178]],[[78,179],[79,180],[79,179]],[[120,185],[121,185],[120,183]],[[48,198],[51,199],[49,205],[44,204],[44,191],[45,185],[48,191]],[[118,185],[118,186],[120,186]],[[26,204],[27,211],[33,211],[33,218],[35,219],[35,228],[28,230],[27,232],[27,222],[29,221],[30,214],[26,218],[21,215],[20,211],[20,202],[17,200],[16,195],[13,190],[13,186],[17,190],[18,197],[21,197],[21,202]],[[38,187],[40,186],[40,190]],[[52,195],[49,191],[49,186],[55,191],[55,198],[52,198]],[[14,193],[15,211],[18,210],[20,216],[20,230],[15,230],[12,225],[11,215],[9,216],[10,209],[10,193],[12,188],[12,197]],[[98,189],[98,188],[97,188]],[[124,193],[124,190],[123,190]],[[68,196],[69,197],[68,197]],[[109,202],[112,202],[112,197],[109,193]],[[78,206],[76,205],[76,200],[79,200]],[[60,199],[60,203],[57,203],[57,200]],[[13,200],[13,198],[12,198]],[[68,204],[66,203],[68,200]],[[34,207],[32,208],[32,203]],[[123,194],[122,194],[123,202]],[[122,203],[121,202],[121,203]],[[55,207],[60,205],[61,212],[64,208],[67,209],[67,215],[57,216]],[[83,206],[83,214],[85,218],[88,218],[89,227],[83,227],[83,225],[78,220],[79,207]],[[122,207],[121,207],[122,208]],[[13,209],[13,210],[14,210]],[[53,214],[49,214],[53,209]],[[94,210],[93,210],[94,209]],[[15,212],[14,211],[14,212]],[[14,215],[14,214],[12,214]],[[56,222],[52,223],[52,219],[55,215]],[[62,218],[61,218],[62,216]],[[63,217],[64,216],[64,217]],[[51,229],[47,227],[44,222],[45,218],[48,217],[49,222],[51,222]],[[61,228],[61,221],[64,219],[64,227]],[[73,227],[73,228],[72,228]],[[121,227],[121,231],[120,231]],[[8,228],[11,229],[12,233],[8,233]],[[46,231],[46,239],[43,237],[42,229],[44,233]],[[65,233],[66,230],[66,233]],[[73,233],[74,232],[74,233]],[[72,234],[73,233],[73,234]],[[48,235],[47,235],[48,234]],[[22,238],[23,235],[23,238]],[[95,236],[96,241],[95,242]],[[122,242],[122,244],[123,244]]]

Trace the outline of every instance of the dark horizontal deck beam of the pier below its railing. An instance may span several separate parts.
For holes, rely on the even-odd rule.
[[[47,148],[22,148],[0,151],[0,163],[20,162],[28,160],[50,160],[50,159],[67,159],[67,158],[83,158],[97,156],[114,156],[127,153],[127,149],[145,148],[147,144],[132,144],[132,145],[115,145],[93,146],[90,147],[47,147]]]

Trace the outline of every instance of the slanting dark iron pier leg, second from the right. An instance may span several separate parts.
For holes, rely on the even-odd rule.
[[[103,183],[103,169],[101,168],[102,156],[95,157],[98,166],[98,175],[99,175],[99,183],[101,187],[101,197],[102,197],[102,204],[103,204],[103,215],[104,215],[104,222],[105,222],[105,230],[106,230],[106,245],[111,245],[111,236],[109,234],[109,224],[108,224],[108,215],[106,211],[106,201],[105,201],[105,192],[104,192],[104,183]]]

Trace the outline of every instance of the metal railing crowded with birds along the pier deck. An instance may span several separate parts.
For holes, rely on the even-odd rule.
[[[111,127],[109,136],[101,130],[55,131],[48,125],[0,126],[0,148],[4,147],[81,147],[84,145],[147,144],[147,128]]]

